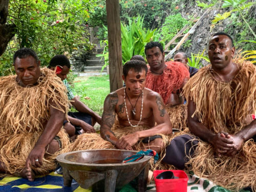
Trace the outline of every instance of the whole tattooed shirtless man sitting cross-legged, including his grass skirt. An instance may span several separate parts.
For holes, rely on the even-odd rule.
[[[145,88],[146,73],[144,62],[126,62],[123,67],[126,87],[110,93],[104,102],[100,127],[103,139],[98,134],[82,134],[71,145],[74,148],[80,146],[80,150],[150,148],[160,153],[165,149],[169,143],[168,135],[172,135],[172,127],[161,96]],[[119,124],[114,125],[115,113]]]

